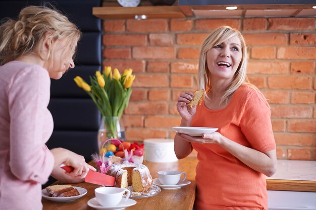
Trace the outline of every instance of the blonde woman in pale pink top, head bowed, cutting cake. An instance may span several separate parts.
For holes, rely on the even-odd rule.
[[[42,209],[41,184],[49,175],[79,182],[89,169],[69,150],[48,150],[53,120],[47,109],[50,79],[74,67],[81,32],[46,7],[24,8],[0,26],[0,209]],[[60,165],[73,166],[73,172]]]

